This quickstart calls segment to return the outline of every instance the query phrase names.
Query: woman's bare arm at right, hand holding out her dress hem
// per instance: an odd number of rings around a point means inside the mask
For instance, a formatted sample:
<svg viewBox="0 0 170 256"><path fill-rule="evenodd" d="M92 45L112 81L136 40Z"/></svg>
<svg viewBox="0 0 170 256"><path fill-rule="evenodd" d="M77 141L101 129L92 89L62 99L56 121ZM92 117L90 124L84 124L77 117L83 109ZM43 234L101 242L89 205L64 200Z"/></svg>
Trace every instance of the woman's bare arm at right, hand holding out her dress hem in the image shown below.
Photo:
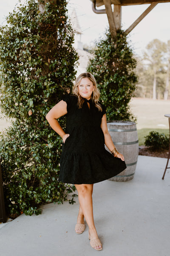
<svg viewBox="0 0 170 256"><path fill-rule="evenodd" d="M110 151L113 151L113 149L115 148L115 145L113 144L111 135L108 132L106 114L104 114L102 117L101 128L105 136L105 145L108 147ZM115 157L119 157L122 161L124 161L124 156L119 152L115 154Z"/></svg>

